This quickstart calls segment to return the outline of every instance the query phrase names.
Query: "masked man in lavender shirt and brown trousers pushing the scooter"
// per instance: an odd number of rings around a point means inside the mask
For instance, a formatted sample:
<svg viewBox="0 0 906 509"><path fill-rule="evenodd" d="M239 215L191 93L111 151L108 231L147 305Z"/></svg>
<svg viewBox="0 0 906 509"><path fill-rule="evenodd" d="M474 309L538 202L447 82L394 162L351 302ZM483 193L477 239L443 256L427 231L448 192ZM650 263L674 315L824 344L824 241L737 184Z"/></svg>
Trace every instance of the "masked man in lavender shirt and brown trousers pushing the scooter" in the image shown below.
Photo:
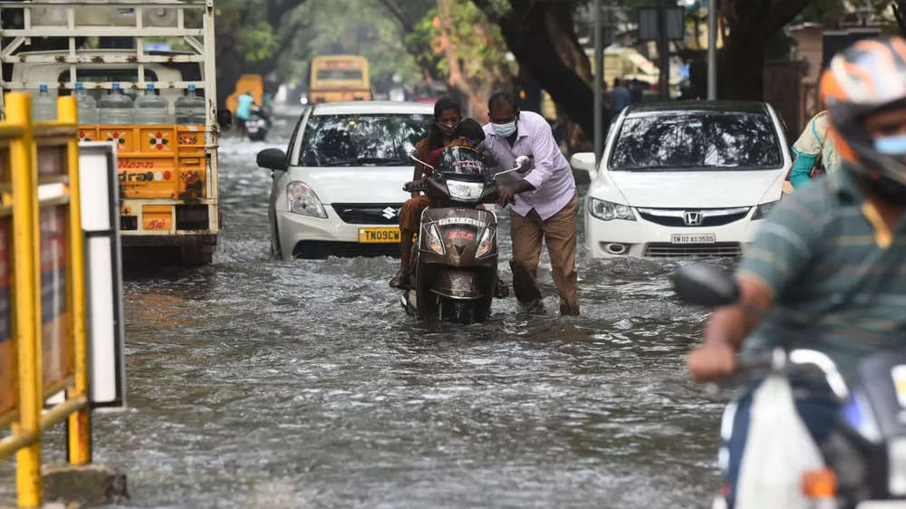
<svg viewBox="0 0 906 509"><path fill-rule="evenodd" d="M547 120L531 111L519 111L516 98L496 92L487 101L484 147L501 168L514 168L516 158L533 158L525 178L500 189L501 206L510 205L513 239L513 290L528 311L544 309L538 289L542 240L551 256L551 272L560 293L560 313L579 314L575 270L576 215L579 198L573 170L554 141Z"/></svg>

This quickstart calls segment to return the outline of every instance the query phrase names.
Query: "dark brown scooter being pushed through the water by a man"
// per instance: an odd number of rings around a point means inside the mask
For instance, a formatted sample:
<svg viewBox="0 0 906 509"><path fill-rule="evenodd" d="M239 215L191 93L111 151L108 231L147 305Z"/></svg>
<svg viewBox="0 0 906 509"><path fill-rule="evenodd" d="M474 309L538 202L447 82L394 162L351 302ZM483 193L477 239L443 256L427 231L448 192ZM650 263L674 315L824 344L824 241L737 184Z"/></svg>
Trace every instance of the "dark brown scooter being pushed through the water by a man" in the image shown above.
<svg viewBox="0 0 906 509"><path fill-rule="evenodd" d="M472 149L452 151L432 168L424 187L415 190L425 191L439 206L421 215L413 284L400 297L406 312L429 321L487 320L496 294L497 220L477 206L496 203L497 186L530 168L531 159L523 156L516 168L488 178Z"/></svg>

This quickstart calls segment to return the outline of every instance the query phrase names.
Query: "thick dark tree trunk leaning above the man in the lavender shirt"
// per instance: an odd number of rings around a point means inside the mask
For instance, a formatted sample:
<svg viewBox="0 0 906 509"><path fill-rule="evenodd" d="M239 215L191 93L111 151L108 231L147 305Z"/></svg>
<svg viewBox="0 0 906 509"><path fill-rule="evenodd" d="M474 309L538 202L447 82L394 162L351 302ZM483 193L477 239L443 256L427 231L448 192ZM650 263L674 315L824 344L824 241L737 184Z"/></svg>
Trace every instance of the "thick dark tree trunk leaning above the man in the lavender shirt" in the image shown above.
<svg viewBox="0 0 906 509"><path fill-rule="evenodd" d="M496 7L490 0L472 1L490 19L496 19L506 46L519 65L535 77L560 109L591 138L594 123L591 63L573 28L573 7L558 2L511 0L518 5L495 18Z"/></svg>

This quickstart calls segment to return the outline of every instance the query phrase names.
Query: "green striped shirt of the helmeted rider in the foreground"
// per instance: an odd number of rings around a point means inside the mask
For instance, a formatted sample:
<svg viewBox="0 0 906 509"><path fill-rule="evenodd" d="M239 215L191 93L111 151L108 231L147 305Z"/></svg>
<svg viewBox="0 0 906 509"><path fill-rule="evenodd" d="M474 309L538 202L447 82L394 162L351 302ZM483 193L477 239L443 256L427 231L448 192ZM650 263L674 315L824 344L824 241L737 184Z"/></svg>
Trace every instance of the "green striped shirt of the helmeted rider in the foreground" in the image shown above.
<svg viewBox="0 0 906 509"><path fill-rule="evenodd" d="M747 349L811 348L849 371L867 354L906 347L906 222L885 236L872 211L845 170L774 207L738 269L775 297Z"/></svg>

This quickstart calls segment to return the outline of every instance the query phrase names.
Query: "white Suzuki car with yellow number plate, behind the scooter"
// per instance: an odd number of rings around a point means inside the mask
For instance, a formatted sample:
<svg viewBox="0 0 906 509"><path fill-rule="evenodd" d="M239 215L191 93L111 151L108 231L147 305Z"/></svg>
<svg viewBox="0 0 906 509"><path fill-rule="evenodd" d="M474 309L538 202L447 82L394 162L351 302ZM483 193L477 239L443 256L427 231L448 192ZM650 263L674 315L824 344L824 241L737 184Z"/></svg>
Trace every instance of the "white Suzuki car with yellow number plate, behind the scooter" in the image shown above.
<svg viewBox="0 0 906 509"><path fill-rule="evenodd" d="M433 106L355 101L313 105L289 149L265 149L274 171L272 250L284 259L399 255L400 206L412 179L408 156L433 121Z"/></svg>

